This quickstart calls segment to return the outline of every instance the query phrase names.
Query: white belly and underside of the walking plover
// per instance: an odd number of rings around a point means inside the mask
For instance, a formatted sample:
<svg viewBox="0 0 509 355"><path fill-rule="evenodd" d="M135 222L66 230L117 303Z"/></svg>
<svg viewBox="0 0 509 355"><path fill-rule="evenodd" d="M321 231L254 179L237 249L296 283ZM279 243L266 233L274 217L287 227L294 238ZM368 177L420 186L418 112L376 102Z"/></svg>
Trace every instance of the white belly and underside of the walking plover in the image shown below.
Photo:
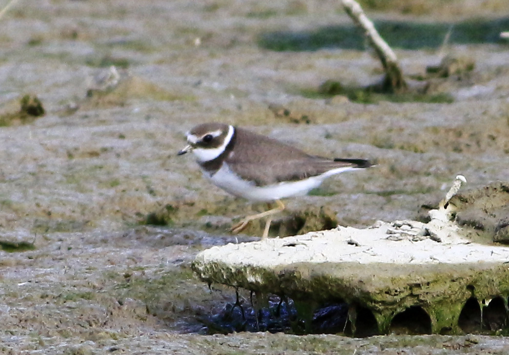
<svg viewBox="0 0 509 355"><path fill-rule="evenodd" d="M223 164L221 169L214 175L210 176L208 173L204 173L204 175L216 186L232 195L243 197L251 201L270 202L291 196L305 195L310 190L320 186L322 181L327 177L348 170L355 170L355 168L337 168L322 175L304 180L279 182L267 186L256 186L251 182L242 180L237 174L232 172L226 164Z"/></svg>

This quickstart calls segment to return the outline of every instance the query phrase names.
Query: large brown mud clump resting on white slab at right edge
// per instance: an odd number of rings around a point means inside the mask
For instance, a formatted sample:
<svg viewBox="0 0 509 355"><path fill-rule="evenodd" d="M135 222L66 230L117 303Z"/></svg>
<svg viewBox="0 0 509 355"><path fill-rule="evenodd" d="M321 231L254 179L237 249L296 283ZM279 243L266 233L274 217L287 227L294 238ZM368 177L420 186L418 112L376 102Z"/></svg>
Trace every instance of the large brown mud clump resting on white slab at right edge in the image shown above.
<svg viewBox="0 0 509 355"><path fill-rule="evenodd" d="M460 193L449 204L455 207L454 219L466 237L485 243L509 243L509 182L494 182Z"/></svg>

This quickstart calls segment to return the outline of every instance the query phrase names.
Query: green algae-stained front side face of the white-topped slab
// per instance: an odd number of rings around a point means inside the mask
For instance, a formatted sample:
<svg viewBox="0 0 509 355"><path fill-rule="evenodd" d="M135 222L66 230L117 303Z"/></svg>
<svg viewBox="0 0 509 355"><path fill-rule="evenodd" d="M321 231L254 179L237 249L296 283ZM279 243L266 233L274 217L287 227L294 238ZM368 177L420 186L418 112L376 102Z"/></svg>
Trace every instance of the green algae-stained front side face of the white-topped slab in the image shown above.
<svg viewBox="0 0 509 355"><path fill-rule="evenodd" d="M395 315L413 306L428 313L432 333L458 334L460 312L472 293L479 300L509 295L509 269L492 263L395 267L383 263L297 263L270 272L256 267L228 269L218 263L204 268L195 262L193 269L209 283L285 294L296 305L309 305L311 312L313 305L332 300L358 304L373 313L382 334L389 331Z"/></svg>

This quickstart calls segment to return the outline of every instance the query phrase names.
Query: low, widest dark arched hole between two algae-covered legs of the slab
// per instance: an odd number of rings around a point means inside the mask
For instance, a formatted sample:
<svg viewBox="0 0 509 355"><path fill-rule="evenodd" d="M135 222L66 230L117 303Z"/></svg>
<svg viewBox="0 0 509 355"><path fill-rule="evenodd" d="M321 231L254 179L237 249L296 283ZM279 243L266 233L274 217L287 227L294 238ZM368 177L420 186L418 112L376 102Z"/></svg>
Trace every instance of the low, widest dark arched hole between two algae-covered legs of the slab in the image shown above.
<svg viewBox="0 0 509 355"><path fill-rule="evenodd" d="M431 318L422 307L411 306L392 318L389 330L394 334L431 334Z"/></svg>

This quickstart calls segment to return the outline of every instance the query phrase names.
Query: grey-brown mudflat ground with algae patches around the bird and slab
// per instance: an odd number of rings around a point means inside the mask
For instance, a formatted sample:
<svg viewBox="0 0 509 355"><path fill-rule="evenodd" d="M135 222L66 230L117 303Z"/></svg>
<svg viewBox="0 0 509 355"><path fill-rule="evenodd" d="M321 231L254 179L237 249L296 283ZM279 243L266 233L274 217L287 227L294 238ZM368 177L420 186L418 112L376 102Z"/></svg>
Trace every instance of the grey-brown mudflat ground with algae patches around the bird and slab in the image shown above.
<svg viewBox="0 0 509 355"><path fill-rule="evenodd" d="M0 18L0 353L505 353L505 338L484 336L205 335L203 319L235 292L210 291L190 262L252 239L228 228L264 206L176 156L193 125L228 122L313 154L377 161L289 200L272 234L327 225L324 213L357 227L416 218L457 174L471 188L509 181L505 2L390 3L370 2L369 14L409 79L445 56L474 65L430 79L413 101L359 94L380 64L328 0L11 8ZM94 78L111 65L120 84L108 88ZM350 91L321 93L330 79ZM20 115L24 95L45 114Z"/></svg>

